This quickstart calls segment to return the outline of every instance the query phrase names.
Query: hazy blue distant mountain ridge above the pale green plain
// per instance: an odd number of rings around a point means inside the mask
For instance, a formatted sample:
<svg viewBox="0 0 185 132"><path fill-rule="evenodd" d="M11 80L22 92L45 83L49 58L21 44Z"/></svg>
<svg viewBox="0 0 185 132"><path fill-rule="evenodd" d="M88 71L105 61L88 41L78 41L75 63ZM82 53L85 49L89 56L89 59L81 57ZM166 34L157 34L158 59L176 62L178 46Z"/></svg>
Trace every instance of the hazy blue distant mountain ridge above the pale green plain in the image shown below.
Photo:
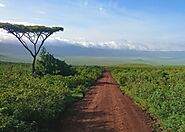
<svg viewBox="0 0 185 132"><path fill-rule="evenodd" d="M46 49L54 56L97 56L97 57L152 57L152 58L185 58L185 51L139 51L88 48L68 43L46 43ZM30 57L29 53L18 43L0 43L0 55Z"/></svg>

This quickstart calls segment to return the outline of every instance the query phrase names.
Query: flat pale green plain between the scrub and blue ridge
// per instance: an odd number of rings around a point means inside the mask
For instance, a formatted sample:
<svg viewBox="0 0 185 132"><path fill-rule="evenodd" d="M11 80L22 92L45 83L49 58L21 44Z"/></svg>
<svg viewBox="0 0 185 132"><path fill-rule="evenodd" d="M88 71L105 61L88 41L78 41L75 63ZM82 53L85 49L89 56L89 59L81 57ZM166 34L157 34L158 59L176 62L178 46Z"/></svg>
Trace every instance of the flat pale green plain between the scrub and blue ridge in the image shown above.
<svg viewBox="0 0 185 132"><path fill-rule="evenodd" d="M72 65L117 65L117 64L150 64L150 65L185 65L184 58L147 58L147 57L93 57L93 56L64 56L59 57ZM0 56L0 61L26 62L31 58L25 56Z"/></svg>

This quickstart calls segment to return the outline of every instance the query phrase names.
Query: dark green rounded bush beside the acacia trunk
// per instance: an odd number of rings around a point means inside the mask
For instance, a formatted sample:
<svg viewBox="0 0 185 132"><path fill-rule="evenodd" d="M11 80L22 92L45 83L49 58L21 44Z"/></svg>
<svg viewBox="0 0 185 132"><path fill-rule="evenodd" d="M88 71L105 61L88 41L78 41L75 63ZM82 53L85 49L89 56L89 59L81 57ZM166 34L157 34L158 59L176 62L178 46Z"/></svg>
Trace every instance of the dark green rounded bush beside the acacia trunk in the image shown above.
<svg viewBox="0 0 185 132"><path fill-rule="evenodd" d="M46 51L45 48L42 49L40 54L40 59L37 60L37 74L39 75L74 75L74 70L70 65L56 59L53 55Z"/></svg>

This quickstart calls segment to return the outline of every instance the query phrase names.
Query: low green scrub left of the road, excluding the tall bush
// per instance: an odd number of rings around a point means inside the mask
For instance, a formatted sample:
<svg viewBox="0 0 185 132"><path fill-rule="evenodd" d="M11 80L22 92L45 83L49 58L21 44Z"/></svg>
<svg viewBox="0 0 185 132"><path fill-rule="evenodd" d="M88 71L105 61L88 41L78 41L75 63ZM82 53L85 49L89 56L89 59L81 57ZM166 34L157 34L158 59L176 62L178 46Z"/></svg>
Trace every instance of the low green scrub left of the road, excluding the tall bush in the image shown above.
<svg viewBox="0 0 185 132"><path fill-rule="evenodd" d="M74 66L74 76L33 77L30 67L0 63L0 131L47 131L102 72L100 67Z"/></svg>

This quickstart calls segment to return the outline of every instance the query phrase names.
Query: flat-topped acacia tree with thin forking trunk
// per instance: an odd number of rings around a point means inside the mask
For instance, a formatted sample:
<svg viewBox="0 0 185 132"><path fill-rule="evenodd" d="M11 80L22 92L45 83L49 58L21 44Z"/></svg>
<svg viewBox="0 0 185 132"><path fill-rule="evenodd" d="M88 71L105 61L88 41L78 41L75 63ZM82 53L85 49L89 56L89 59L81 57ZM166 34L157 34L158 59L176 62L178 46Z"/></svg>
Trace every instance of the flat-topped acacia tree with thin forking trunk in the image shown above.
<svg viewBox="0 0 185 132"><path fill-rule="evenodd" d="M0 23L0 28L13 34L33 57L32 74L35 75L37 55L46 39L55 32L63 31L63 27L25 26L11 23ZM28 43L31 43L32 46Z"/></svg>

